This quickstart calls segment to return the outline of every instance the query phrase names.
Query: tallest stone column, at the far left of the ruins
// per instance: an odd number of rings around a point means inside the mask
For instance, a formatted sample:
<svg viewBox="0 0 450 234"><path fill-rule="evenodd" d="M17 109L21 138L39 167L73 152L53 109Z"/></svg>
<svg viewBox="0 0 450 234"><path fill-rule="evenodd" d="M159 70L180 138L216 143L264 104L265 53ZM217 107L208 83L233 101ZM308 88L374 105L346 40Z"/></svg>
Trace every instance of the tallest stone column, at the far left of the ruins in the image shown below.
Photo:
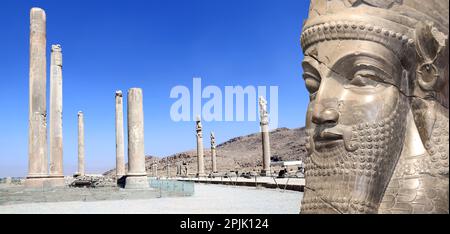
<svg viewBox="0 0 450 234"><path fill-rule="evenodd" d="M30 73L27 187L41 187L48 177L46 106L46 15L30 11Z"/></svg>

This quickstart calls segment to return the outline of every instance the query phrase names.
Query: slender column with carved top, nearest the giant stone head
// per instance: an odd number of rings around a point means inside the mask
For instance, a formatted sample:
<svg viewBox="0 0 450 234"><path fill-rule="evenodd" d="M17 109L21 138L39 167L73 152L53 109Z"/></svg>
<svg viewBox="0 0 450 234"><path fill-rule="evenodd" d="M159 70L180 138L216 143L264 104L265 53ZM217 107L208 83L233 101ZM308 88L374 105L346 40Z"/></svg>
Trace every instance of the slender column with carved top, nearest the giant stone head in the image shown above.
<svg viewBox="0 0 450 234"><path fill-rule="evenodd" d="M267 101L262 96L259 97L259 113L261 118L260 126L263 149L263 168L261 175L270 176L269 114L267 113Z"/></svg>

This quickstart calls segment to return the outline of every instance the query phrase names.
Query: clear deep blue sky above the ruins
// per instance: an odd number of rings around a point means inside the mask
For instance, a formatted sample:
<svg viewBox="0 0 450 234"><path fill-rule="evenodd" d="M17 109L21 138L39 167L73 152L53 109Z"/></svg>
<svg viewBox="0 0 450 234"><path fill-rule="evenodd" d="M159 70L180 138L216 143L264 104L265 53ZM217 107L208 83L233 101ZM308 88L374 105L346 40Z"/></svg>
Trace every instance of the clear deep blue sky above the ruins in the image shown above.
<svg viewBox="0 0 450 234"><path fill-rule="evenodd" d="M308 5L306 0L2 1L0 177L27 174L31 7L47 13L47 87L50 46L63 49L64 173L72 174L79 110L85 113L86 171L115 167L119 89L143 89L148 155L195 148L194 122L173 122L170 107L176 100L169 97L174 86L192 89L193 77L222 90L278 86L278 126L304 126L308 95L299 41ZM218 143L259 130L253 121L203 126L205 136L215 131Z"/></svg>

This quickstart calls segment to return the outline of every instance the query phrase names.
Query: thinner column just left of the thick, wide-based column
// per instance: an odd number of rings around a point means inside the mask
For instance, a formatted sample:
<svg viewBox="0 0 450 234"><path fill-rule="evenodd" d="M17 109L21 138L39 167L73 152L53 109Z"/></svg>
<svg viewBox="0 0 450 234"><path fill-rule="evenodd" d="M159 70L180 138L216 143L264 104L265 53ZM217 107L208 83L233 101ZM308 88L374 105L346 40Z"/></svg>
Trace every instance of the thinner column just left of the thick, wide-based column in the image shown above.
<svg viewBox="0 0 450 234"><path fill-rule="evenodd" d="M125 175L125 148L123 135L123 97L122 91L116 91L116 176Z"/></svg>

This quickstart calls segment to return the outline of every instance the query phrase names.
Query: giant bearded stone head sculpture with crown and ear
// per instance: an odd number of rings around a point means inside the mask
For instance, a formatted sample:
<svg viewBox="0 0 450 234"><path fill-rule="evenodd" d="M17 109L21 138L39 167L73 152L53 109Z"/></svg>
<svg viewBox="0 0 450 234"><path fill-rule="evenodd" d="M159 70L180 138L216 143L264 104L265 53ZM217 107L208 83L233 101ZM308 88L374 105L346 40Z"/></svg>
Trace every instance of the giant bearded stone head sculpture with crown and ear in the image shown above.
<svg viewBox="0 0 450 234"><path fill-rule="evenodd" d="M448 0L312 0L301 213L448 213Z"/></svg>

